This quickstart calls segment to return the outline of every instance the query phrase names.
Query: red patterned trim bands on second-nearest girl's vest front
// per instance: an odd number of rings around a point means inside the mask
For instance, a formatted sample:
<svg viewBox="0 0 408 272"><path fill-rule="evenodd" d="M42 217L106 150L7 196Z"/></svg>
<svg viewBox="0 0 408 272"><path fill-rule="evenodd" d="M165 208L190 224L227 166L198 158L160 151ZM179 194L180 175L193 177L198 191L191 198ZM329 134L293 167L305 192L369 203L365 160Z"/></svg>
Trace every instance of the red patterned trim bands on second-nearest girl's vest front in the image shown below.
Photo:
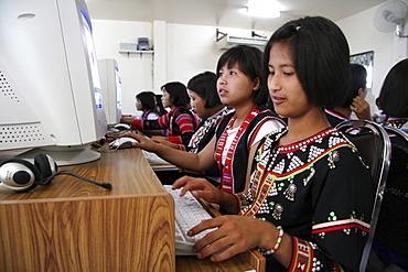
<svg viewBox="0 0 408 272"><path fill-rule="evenodd" d="M237 119L237 115L235 113L233 118L229 120L227 127L224 129L223 134L219 137L219 140L216 145L215 150L215 161L218 164L219 170L222 170L222 178L221 178L221 184L219 188L223 192L234 194L234 178L233 178L233 162L234 162L234 155L235 155L235 149L236 145L243 135L243 133L246 131L248 128L249 123L254 120L255 117L258 116L259 111L256 109L257 105L254 106L254 108L250 110L250 112L247 115L245 118L244 122L240 124L237 134L235 135L233 142L230 143L230 146L227 151L227 156L225 160L225 165L223 167L222 164L222 157L223 157L223 152L224 148L227 141L228 137L228 130L233 127L235 120Z"/></svg>

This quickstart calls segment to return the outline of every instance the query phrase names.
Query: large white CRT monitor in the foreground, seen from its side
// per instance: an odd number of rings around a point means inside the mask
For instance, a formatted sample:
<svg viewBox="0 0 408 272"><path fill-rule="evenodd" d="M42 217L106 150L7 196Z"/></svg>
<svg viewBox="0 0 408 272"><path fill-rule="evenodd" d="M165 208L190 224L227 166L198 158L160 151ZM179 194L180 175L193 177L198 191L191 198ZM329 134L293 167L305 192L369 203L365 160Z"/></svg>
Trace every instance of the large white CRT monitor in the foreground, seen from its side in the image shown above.
<svg viewBox="0 0 408 272"><path fill-rule="evenodd" d="M0 151L100 157L86 145L107 131L92 31L83 0L0 1Z"/></svg>

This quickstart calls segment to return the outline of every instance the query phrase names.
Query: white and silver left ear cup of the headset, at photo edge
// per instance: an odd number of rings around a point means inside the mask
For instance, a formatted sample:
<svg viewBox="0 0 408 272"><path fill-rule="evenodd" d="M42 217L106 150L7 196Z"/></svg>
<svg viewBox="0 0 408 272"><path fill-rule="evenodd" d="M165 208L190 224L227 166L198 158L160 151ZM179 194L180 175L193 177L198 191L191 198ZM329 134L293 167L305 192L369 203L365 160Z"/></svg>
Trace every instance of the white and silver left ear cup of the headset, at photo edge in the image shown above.
<svg viewBox="0 0 408 272"><path fill-rule="evenodd" d="M36 186L39 170L30 162L11 159L0 164L0 191L29 191Z"/></svg>

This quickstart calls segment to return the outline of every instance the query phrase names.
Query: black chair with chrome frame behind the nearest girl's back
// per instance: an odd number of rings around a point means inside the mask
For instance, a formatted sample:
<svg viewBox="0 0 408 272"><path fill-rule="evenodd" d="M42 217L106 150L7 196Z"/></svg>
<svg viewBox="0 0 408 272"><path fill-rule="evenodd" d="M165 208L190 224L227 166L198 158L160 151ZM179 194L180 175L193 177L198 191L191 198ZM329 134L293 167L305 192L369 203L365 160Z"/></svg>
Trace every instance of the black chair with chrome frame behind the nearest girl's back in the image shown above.
<svg viewBox="0 0 408 272"><path fill-rule="evenodd" d="M367 242L364 247L359 271L365 272L376 230L383 195L390 163L390 141L384 128L366 120L347 120L336 126L356 145L363 162L369 166L375 199Z"/></svg>

